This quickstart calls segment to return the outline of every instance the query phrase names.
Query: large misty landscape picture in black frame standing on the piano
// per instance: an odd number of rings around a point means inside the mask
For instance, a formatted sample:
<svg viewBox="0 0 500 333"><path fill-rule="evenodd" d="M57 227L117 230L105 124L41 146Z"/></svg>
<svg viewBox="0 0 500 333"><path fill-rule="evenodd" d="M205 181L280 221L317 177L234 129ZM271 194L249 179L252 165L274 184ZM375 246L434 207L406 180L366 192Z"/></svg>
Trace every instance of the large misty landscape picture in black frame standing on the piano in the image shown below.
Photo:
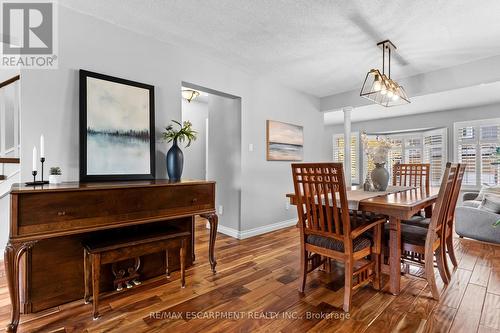
<svg viewBox="0 0 500 333"><path fill-rule="evenodd" d="M80 70L80 181L155 177L154 87Z"/></svg>

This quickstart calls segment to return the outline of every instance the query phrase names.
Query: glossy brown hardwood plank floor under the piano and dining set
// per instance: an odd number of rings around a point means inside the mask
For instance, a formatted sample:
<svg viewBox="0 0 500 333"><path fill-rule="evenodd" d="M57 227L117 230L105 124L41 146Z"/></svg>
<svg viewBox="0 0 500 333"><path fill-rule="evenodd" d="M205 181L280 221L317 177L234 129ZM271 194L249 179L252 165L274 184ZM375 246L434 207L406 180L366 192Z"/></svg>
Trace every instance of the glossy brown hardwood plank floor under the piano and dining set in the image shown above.
<svg viewBox="0 0 500 333"><path fill-rule="evenodd" d="M218 234L216 275L208 264L205 221L198 221L196 229L196 263L186 271L185 289L175 272L169 280L103 295L97 321L92 306L77 301L21 316L19 332L500 333L500 246L455 239L459 268L439 303L425 280L405 275L399 296L367 286L354 293L352 311L345 314L342 267L309 274L305 295L299 294L295 227L241 241ZM9 311L2 265L2 328Z"/></svg>

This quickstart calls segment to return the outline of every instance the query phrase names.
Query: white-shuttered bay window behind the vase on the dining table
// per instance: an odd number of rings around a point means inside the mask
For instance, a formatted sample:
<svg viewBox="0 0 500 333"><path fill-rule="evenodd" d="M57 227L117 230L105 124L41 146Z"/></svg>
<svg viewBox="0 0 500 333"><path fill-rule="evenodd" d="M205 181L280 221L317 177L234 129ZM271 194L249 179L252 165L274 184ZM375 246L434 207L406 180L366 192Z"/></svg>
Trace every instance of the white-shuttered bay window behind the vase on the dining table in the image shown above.
<svg viewBox="0 0 500 333"><path fill-rule="evenodd" d="M447 160L447 129L439 128L429 131L416 131L403 134L384 135L393 142L389 151L387 170L392 179L392 167L396 163L429 163L431 165L430 183L439 186ZM374 144L375 135L368 136L368 145ZM368 161L368 157L364 156ZM368 161L366 172L373 170L373 163Z"/></svg>

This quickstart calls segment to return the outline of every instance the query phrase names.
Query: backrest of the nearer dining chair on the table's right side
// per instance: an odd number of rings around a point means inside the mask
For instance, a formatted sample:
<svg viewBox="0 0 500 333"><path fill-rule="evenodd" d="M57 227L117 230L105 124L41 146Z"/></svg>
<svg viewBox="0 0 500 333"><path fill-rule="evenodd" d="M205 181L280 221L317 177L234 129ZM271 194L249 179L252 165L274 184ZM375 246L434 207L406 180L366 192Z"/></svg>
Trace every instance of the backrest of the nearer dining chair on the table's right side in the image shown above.
<svg viewBox="0 0 500 333"><path fill-rule="evenodd" d="M439 188L438 198L432 211L429 232L439 233L443 235L446 218L448 215L451 197L453 195L453 186L455 185L458 174L458 164L446 163L441 187Z"/></svg>

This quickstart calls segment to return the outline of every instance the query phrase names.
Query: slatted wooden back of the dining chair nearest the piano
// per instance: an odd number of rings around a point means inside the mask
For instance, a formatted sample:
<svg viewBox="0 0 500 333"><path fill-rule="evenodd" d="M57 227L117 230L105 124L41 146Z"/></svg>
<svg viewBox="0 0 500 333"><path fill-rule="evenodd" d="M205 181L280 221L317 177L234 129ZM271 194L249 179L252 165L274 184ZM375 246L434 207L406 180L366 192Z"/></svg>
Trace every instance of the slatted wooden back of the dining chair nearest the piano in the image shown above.
<svg viewBox="0 0 500 333"><path fill-rule="evenodd" d="M351 232L342 163L293 163L299 223L304 234L343 239Z"/></svg>

